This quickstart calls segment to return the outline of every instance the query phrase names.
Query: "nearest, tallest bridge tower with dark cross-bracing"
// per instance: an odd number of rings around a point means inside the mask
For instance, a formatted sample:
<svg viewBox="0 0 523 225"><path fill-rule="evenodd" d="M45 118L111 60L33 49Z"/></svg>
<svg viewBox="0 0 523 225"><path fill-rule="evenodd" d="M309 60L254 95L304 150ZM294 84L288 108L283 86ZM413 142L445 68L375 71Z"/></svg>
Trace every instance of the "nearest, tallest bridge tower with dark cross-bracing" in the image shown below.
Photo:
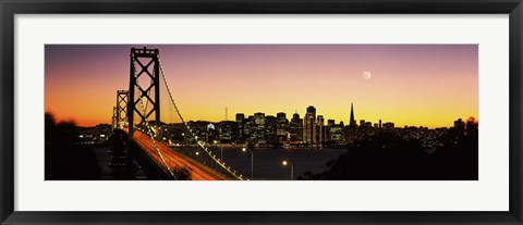
<svg viewBox="0 0 523 225"><path fill-rule="evenodd" d="M158 62L158 49L131 49L131 73L129 83L127 121L129 134L134 132L134 114L141 122L148 122L155 113L156 122L160 121L160 64ZM141 78L145 76L146 78ZM139 82L138 82L139 79ZM151 91L153 95L151 95ZM137 95L137 96L135 96ZM144 100L144 98L146 100ZM144 100L142 103L139 102ZM147 102L147 103L146 103ZM151 104L151 109L145 107ZM143 105L142 105L143 104ZM146 112L144 112L144 109Z"/></svg>

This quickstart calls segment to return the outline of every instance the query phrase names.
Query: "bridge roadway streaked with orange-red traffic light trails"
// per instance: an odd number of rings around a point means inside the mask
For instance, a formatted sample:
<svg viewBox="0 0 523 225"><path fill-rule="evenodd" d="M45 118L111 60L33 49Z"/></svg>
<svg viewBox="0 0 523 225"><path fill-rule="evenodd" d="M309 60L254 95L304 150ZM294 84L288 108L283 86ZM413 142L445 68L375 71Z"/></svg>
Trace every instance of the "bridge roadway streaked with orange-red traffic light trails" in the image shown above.
<svg viewBox="0 0 523 225"><path fill-rule="evenodd" d="M125 130L127 132L127 130ZM165 164L155 149L150 136L139 132L134 130L133 134L134 141L147 153L147 155L155 161L158 166L165 167ZM166 163L171 170L186 167L191 172L192 180L227 180L231 179L223 174L208 167L207 165L202 164L200 162L187 158L181 153L175 152L170 149L168 146L156 141L159 151L163 155Z"/></svg>

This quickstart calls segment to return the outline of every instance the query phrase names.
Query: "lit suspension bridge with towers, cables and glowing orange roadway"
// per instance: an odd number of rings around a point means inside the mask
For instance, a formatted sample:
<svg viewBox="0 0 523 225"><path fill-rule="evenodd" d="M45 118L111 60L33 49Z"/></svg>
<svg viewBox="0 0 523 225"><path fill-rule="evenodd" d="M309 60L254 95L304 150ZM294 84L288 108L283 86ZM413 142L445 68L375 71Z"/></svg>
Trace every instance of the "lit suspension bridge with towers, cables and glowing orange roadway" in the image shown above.
<svg viewBox="0 0 523 225"><path fill-rule="evenodd" d="M167 88L169 103L174 108L174 116L180 118L186 130L184 134L195 140L197 148L171 148L159 137L160 77ZM112 126L114 130L123 130L167 179L244 179L243 175L228 166L208 148L208 143L198 137L182 116L169 87L158 49L131 49L129 89L117 90Z"/></svg>

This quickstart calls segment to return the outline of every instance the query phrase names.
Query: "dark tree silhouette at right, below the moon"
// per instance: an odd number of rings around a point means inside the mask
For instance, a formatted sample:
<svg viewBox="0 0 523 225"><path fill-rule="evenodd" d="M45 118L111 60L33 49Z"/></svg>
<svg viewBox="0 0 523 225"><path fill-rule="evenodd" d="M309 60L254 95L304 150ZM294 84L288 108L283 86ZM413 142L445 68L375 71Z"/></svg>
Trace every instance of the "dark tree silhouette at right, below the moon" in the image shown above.
<svg viewBox="0 0 523 225"><path fill-rule="evenodd" d="M329 170L299 179L344 180L475 180L478 177L477 121L466 121L466 134L455 138L449 130L441 138L448 145L428 153L417 139L404 139L393 130L355 141L348 152L327 162Z"/></svg>

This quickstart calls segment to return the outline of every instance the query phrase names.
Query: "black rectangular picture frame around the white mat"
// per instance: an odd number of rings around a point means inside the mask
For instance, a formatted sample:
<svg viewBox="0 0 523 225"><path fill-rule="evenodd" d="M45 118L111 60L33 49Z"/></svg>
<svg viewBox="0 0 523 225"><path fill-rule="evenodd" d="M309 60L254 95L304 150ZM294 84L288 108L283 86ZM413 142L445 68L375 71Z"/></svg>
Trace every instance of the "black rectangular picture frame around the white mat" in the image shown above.
<svg viewBox="0 0 523 225"><path fill-rule="evenodd" d="M0 0L1 224L523 224L522 0ZM15 14L509 14L510 207L507 212L21 212L14 211ZM488 195L496 195L495 192ZM501 195L501 193L500 193ZM136 202L139 203L139 202Z"/></svg>

